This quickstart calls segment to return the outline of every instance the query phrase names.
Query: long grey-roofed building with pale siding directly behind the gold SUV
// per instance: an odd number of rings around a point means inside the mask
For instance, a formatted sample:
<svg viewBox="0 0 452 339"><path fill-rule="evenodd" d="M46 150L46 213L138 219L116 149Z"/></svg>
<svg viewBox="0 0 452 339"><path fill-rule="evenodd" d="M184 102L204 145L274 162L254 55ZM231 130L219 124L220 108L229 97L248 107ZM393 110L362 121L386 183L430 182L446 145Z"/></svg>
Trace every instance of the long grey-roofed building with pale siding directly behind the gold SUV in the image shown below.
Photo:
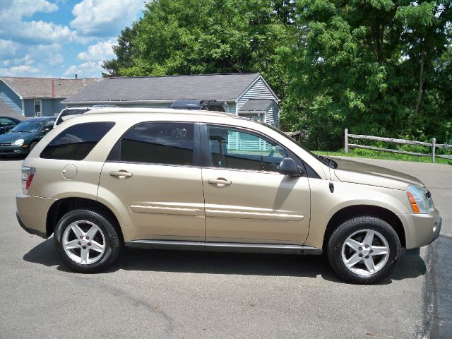
<svg viewBox="0 0 452 339"><path fill-rule="evenodd" d="M260 73L104 78L62 103L167 108L184 99L217 100L226 112L279 127L280 100Z"/></svg>

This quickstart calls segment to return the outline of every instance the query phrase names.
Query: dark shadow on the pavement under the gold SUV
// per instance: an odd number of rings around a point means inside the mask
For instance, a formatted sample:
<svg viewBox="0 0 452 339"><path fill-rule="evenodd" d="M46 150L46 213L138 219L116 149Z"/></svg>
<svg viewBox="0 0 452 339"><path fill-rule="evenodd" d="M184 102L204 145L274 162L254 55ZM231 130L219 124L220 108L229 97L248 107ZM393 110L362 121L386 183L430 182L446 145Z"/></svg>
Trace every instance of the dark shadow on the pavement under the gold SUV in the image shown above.
<svg viewBox="0 0 452 339"><path fill-rule="evenodd" d="M23 260L48 267L57 266L58 270L70 272L54 248L52 238L31 249L23 256ZM321 275L325 280L344 283L335 275L326 256L124 249L117 261L102 273L114 273L117 270L305 278ZM425 272L425 263L419 254L403 255L393 274L379 285L391 284L393 280L416 278Z"/></svg>

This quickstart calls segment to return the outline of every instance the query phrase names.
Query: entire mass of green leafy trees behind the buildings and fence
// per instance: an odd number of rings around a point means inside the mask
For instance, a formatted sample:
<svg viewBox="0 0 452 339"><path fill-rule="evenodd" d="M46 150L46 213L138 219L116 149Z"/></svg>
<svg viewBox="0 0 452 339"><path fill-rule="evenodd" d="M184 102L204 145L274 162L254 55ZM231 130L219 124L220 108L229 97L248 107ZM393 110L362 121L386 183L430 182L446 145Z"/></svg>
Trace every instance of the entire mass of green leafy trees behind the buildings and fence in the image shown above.
<svg viewBox="0 0 452 339"><path fill-rule="evenodd" d="M261 72L311 147L452 140L450 0L155 0L106 76ZM327 137L327 138L326 138Z"/></svg>

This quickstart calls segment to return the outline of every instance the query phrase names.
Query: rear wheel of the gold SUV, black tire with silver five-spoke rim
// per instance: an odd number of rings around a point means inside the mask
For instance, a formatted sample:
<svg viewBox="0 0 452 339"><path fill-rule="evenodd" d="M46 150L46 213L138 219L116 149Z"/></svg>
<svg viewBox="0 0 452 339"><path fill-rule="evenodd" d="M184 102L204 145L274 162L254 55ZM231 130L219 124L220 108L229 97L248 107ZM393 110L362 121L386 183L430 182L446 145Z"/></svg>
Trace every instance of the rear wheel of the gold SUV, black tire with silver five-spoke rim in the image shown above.
<svg viewBox="0 0 452 339"><path fill-rule="evenodd" d="M83 239L81 239L82 243L78 242L80 244L79 248L65 250L64 242L66 240L64 237L67 237L68 242L66 244L69 244L69 241L74 241L74 239L78 240L78 236L76 232L73 232L73 228L69 230L69 227L73 226L74 222L77 223L78 230L80 229L84 232ZM98 229L95 231L95 239L85 239L85 235L88 234L93 225ZM66 230L68 232L65 234ZM93 242L93 245L96 244L96 246L99 244L103 245L103 253L98 252L97 249L93 250L93 247L88 247L88 245L92 246L90 241ZM121 242L112 220L109 220L109 218L106 218L96 210L72 210L66 213L59 220L57 227L55 227L54 245L57 247L59 255L66 266L81 273L96 273L105 270L105 268L114 262L121 250ZM93 263L76 261L75 258L77 256L80 256L80 259L83 260L82 248L83 253L86 253L86 249L88 248L88 260L90 256L94 256L94 258L91 258L91 260L95 260ZM78 255L78 253L80 254Z"/></svg>

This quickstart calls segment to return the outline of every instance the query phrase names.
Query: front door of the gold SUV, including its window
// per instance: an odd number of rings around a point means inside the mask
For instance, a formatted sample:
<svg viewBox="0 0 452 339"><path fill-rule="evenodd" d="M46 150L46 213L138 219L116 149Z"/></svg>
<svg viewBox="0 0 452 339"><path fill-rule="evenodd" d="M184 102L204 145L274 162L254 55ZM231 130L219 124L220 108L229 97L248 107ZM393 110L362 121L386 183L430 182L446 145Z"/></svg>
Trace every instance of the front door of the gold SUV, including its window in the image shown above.
<svg viewBox="0 0 452 339"><path fill-rule="evenodd" d="M307 177L278 172L287 150L258 132L203 129L206 242L303 244L309 231Z"/></svg>

